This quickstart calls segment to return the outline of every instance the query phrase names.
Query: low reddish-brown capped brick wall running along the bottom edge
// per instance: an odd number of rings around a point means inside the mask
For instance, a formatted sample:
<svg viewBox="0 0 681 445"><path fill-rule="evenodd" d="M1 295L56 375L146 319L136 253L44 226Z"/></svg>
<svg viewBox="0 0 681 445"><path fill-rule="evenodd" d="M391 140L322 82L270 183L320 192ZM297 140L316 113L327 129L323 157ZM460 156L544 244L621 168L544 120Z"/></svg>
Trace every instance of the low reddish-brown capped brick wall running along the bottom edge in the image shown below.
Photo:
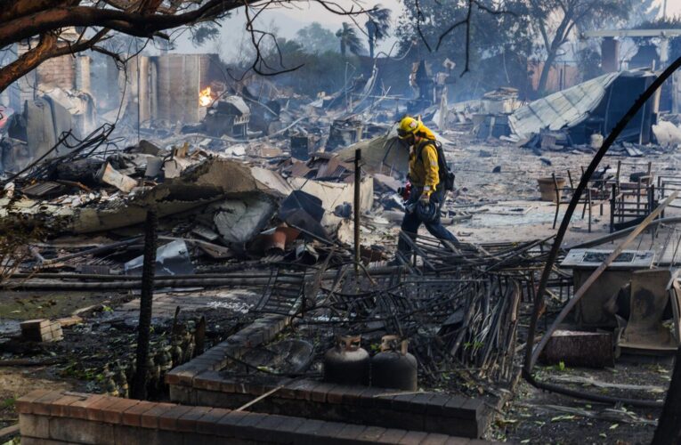
<svg viewBox="0 0 681 445"><path fill-rule="evenodd" d="M30 392L17 401L17 410L22 445L487 443L443 434L78 392Z"/></svg>

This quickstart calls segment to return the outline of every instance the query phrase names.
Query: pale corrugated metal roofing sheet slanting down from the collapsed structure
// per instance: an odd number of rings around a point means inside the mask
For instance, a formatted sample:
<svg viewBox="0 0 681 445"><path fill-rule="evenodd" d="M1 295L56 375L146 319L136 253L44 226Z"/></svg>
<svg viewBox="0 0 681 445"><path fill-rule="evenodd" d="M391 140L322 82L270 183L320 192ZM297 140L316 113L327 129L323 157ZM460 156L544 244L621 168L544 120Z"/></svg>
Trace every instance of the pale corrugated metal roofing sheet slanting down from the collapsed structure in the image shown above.
<svg viewBox="0 0 681 445"><path fill-rule="evenodd" d="M513 133L528 137L543 129L552 131L580 124L603 100L605 91L621 73L609 73L553 93L516 109L508 124Z"/></svg>

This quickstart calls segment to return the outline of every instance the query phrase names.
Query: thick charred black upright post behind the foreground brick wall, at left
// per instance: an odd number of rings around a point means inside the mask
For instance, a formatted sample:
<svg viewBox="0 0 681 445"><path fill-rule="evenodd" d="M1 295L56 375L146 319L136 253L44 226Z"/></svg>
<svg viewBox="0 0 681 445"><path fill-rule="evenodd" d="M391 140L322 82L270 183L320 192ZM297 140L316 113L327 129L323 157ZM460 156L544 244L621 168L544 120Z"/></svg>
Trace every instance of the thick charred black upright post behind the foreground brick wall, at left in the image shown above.
<svg viewBox="0 0 681 445"><path fill-rule="evenodd" d="M144 262L142 263L142 295L140 295L140 322L137 325L137 359L133 379L133 399L147 398L147 360L151 330L151 299L154 294L156 267L156 229L158 216L155 210L147 212L144 234Z"/></svg>

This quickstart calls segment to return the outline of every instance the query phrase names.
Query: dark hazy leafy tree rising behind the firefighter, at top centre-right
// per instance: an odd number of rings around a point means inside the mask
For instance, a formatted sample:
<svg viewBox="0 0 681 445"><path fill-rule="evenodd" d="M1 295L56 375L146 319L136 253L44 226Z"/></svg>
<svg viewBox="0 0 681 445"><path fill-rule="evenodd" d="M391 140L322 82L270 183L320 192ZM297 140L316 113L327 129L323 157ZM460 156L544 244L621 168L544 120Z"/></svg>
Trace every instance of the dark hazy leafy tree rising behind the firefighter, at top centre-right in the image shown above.
<svg viewBox="0 0 681 445"><path fill-rule="evenodd" d="M409 52L409 61L427 59L435 72L440 70L445 59L456 62L457 69L451 77L455 85L450 86L455 100L477 98L501 85L518 87L523 94L527 85L527 61L533 51L535 36L531 32L527 5L522 0L508 0L503 6L493 7L508 13L490 14L474 8L468 52L472 76L464 77L458 77L458 73L466 62L466 28L458 26L446 36L442 35L447 28L466 19L468 2L419 0L423 13L420 21L416 0L404 0L404 4L406 13L395 28L401 54ZM432 53L419 36L417 22Z"/></svg>

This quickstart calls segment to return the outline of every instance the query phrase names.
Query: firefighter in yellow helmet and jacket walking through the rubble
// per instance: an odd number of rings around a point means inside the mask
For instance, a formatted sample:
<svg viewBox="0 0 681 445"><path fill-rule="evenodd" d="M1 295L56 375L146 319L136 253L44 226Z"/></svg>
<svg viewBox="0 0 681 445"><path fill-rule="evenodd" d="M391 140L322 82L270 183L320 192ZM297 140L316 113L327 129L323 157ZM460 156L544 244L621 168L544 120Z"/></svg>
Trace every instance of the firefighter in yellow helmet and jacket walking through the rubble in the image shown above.
<svg viewBox="0 0 681 445"><path fill-rule="evenodd" d="M445 159L440 159L435 145L434 133L414 117L404 117L397 129L398 137L409 145L409 182L411 189L405 202L404 219L397 244L398 252L404 258L409 255L409 244L402 239L404 235L416 239L418 228L426 224L426 229L437 239L454 243L458 240L440 223L440 209L444 204L446 187L441 166L446 167ZM452 180L453 183L453 180Z"/></svg>

